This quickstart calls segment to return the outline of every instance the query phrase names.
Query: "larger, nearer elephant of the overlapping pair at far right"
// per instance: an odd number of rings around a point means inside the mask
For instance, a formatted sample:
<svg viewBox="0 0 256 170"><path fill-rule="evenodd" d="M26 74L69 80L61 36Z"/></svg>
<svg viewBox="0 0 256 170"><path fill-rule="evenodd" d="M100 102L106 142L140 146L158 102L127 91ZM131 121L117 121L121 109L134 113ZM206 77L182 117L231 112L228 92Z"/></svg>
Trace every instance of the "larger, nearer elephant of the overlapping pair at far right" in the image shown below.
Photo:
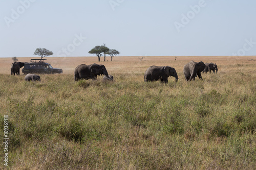
<svg viewBox="0 0 256 170"><path fill-rule="evenodd" d="M204 70L204 68L205 68L204 62L190 61L189 63L185 64L183 68L185 79L187 81L191 81L191 80L195 80L195 78L198 76L199 79L203 80L201 76L201 72Z"/></svg>

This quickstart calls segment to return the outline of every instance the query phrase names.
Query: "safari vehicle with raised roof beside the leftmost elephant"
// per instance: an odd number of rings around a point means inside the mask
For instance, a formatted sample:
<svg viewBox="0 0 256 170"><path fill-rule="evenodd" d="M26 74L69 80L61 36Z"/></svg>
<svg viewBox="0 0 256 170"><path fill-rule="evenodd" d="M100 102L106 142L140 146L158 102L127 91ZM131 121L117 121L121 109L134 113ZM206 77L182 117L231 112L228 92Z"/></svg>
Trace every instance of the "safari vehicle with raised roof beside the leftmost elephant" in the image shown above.
<svg viewBox="0 0 256 170"><path fill-rule="evenodd" d="M39 74L55 74L62 73L61 68L53 68L51 64L45 62L46 59L31 59L30 62L25 62L22 72L24 74L39 73Z"/></svg>

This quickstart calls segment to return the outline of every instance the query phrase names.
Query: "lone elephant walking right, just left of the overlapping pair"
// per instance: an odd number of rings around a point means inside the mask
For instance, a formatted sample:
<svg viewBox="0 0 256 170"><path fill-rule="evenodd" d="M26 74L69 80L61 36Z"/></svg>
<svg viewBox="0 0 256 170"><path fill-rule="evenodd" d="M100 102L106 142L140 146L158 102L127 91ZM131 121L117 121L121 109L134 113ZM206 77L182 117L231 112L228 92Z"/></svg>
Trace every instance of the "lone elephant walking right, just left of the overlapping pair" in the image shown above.
<svg viewBox="0 0 256 170"><path fill-rule="evenodd" d="M178 75L175 68L170 66L155 66L152 65L147 68L144 74L144 81L158 81L161 83L168 83L168 77L173 76L178 81Z"/></svg>

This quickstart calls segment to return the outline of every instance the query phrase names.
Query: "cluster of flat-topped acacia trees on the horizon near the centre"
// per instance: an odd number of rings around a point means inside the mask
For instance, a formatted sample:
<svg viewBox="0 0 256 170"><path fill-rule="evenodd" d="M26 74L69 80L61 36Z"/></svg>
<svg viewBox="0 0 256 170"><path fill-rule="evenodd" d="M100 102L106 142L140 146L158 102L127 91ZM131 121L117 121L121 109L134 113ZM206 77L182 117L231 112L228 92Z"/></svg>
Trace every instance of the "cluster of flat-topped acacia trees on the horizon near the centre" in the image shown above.
<svg viewBox="0 0 256 170"><path fill-rule="evenodd" d="M88 53L90 54L96 54L98 57L98 60L100 61L100 57L104 54L104 61L106 61L106 54L110 55L111 61L113 60L113 57L120 54L115 49L108 48L105 43L103 45L96 45L92 50L90 50Z"/></svg>

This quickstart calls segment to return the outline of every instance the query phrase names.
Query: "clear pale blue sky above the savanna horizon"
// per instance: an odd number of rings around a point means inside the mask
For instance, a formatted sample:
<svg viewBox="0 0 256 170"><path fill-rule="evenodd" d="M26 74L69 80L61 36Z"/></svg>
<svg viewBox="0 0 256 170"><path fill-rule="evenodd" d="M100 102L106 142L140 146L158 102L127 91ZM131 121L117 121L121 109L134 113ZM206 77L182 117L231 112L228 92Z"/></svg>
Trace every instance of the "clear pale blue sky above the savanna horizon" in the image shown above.
<svg viewBox="0 0 256 170"><path fill-rule="evenodd" d="M102 43L119 56L256 55L255 9L253 0L1 0L0 57L37 47L93 56Z"/></svg>

